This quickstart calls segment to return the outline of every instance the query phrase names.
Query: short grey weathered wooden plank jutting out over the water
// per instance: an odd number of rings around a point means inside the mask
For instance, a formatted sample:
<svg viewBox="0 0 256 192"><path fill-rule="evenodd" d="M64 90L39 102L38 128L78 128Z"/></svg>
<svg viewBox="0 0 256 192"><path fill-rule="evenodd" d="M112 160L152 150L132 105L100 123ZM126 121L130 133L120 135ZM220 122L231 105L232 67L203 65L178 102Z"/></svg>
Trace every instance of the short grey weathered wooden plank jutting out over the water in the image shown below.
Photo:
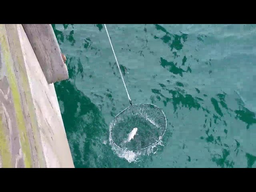
<svg viewBox="0 0 256 192"><path fill-rule="evenodd" d="M22 24L48 84L68 79L68 69L62 59L51 24Z"/></svg>

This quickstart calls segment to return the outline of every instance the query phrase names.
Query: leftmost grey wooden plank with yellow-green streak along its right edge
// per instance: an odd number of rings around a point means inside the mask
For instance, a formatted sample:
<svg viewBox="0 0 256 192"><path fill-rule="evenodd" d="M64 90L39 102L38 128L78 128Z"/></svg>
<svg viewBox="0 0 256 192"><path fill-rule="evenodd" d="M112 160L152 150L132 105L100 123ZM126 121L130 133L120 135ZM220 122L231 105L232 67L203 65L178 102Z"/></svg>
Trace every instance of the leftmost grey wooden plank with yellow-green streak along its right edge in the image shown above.
<svg viewBox="0 0 256 192"><path fill-rule="evenodd" d="M12 42L12 40L10 40ZM12 43L11 43L12 44ZM20 96L17 68L10 51L9 38L5 24L0 24L0 55L1 55L1 81L0 104L2 106L1 122L1 159L2 166L33 167L30 141L25 126L23 101ZM16 47L18 49L18 46ZM22 72L21 72L22 74ZM4 160L10 159L7 149L11 154L9 165L4 165ZM5 151L3 153L3 151Z"/></svg>

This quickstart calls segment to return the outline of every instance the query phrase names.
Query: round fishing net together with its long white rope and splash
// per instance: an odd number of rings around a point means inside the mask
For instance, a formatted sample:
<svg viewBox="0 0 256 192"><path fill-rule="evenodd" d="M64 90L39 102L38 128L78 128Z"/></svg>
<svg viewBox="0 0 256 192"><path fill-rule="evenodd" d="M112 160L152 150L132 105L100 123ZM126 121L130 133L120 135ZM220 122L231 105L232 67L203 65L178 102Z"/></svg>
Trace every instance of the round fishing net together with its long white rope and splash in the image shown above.
<svg viewBox="0 0 256 192"><path fill-rule="evenodd" d="M110 36L106 24L104 24L108 39L116 59L120 76L124 83L130 106L120 112L109 126L109 142L112 149L121 158L126 158L128 162L136 160L136 157L143 152L150 153L153 148L161 143L161 139L166 131L166 116L164 112L157 106L148 103L132 104L132 100L126 88L121 69L119 67L114 48L112 46ZM136 134L138 128L140 133ZM133 128L133 129L132 129ZM128 133L128 131L132 131ZM134 136L136 142L134 142ZM126 138L128 136L128 138ZM126 138L126 139L124 139ZM133 140L131 142L131 140ZM143 151L142 151L143 150Z"/></svg>

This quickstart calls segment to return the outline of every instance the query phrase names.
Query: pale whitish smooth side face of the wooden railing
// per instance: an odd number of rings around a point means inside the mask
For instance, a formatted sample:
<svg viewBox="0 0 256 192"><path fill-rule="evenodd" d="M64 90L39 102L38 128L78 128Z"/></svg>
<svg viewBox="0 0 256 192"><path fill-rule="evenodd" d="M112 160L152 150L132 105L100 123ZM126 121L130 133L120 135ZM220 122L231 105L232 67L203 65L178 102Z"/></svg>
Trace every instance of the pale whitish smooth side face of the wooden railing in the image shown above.
<svg viewBox="0 0 256 192"><path fill-rule="evenodd" d="M74 168L54 84L48 84L22 25L18 25L46 167Z"/></svg>

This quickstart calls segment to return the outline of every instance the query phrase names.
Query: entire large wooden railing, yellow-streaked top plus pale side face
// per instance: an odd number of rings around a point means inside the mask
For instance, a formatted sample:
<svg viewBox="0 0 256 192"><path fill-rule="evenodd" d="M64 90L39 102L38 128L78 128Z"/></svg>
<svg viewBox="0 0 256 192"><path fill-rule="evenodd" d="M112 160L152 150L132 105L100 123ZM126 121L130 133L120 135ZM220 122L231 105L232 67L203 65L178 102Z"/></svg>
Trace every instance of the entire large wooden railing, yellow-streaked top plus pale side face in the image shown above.
<svg viewBox="0 0 256 192"><path fill-rule="evenodd" d="M21 24L0 24L0 167L74 167L53 84Z"/></svg>

